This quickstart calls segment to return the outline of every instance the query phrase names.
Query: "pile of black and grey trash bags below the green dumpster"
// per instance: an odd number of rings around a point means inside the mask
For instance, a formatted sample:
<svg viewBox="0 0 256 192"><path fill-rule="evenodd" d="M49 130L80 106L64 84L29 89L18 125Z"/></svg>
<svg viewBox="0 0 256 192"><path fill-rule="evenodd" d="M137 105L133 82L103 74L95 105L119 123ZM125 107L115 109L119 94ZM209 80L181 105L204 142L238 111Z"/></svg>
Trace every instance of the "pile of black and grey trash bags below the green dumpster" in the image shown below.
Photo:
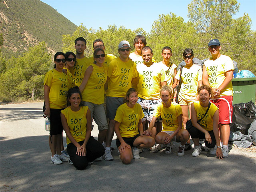
<svg viewBox="0 0 256 192"><path fill-rule="evenodd" d="M244 148L256 145L256 106L252 101L233 105L229 141Z"/></svg>

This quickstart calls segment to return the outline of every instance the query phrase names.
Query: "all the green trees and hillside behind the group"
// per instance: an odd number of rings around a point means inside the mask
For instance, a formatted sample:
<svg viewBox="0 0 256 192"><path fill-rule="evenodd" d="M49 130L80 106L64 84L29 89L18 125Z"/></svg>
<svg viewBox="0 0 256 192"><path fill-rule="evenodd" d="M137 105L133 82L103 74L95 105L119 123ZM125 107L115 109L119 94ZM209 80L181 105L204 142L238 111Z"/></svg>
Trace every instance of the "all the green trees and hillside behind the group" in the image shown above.
<svg viewBox="0 0 256 192"><path fill-rule="evenodd" d="M39 0L0 0L0 6L0 102L43 99L44 74L53 68L52 56L60 50L75 52L74 40L80 36L87 41L86 56L92 56L96 38L102 38L106 53L118 56L121 40L128 40L133 48L134 37L141 34L146 36L157 61L162 60L162 48L170 46L171 62L175 64L182 62L185 48L192 48L200 60L210 58L208 42L218 38L222 54L238 62L240 70L256 74L256 31L251 30L248 14L232 18L239 11L236 0L191 0L188 22L172 12L162 14L149 33L142 28L130 30L115 25L106 30L76 27ZM49 48L54 51L49 53Z"/></svg>

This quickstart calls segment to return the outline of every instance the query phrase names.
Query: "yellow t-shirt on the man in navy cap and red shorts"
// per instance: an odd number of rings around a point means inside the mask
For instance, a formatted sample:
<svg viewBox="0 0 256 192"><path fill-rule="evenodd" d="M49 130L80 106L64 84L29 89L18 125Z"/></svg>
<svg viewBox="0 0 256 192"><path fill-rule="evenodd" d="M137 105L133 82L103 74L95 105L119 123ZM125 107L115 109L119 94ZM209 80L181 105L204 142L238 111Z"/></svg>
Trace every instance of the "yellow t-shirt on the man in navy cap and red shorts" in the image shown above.
<svg viewBox="0 0 256 192"><path fill-rule="evenodd" d="M212 88L219 88L226 78L224 73L233 70L234 65L233 61L229 56L220 55L216 60L212 60L212 58L206 60L204 62L204 66L206 68L208 74L208 82ZM233 96L233 86L230 81L229 84L221 90L220 96Z"/></svg>

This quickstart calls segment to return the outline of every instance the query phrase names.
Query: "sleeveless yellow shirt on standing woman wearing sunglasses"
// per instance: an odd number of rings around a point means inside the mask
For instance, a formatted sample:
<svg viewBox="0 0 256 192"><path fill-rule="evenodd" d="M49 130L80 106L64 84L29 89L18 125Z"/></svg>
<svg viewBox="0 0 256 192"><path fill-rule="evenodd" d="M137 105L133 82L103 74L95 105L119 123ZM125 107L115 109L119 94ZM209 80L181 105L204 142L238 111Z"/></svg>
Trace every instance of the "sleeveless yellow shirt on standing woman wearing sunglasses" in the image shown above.
<svg viewBox="0 0 256 192"><path fill-rule="evenodd" d="M104 85L107 80L107 66L102 67L92 64L93 70L82 92L82 100L94 104L104 103Z"/></svg>

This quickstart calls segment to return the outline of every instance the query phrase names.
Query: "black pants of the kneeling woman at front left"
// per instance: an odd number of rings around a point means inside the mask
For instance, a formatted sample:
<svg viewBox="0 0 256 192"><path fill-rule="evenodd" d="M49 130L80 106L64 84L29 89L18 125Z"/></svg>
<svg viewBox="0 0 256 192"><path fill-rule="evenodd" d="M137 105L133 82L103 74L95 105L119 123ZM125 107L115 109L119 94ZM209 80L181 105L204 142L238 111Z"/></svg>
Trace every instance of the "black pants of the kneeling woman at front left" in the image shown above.
<svg viewBox="0 0 256 192"><path fill-rule="evenodd" d="M84 141L80 141L78 143L82 146ZM74 167L78 170L84 170L88 165L88 161L92 162L96 158L101 157L105 152L102 144L95 140L93 136L90 136L86 144L86 156L78 156L76 154L77 148L73 143L68 144L67 151Z"/></svg>

